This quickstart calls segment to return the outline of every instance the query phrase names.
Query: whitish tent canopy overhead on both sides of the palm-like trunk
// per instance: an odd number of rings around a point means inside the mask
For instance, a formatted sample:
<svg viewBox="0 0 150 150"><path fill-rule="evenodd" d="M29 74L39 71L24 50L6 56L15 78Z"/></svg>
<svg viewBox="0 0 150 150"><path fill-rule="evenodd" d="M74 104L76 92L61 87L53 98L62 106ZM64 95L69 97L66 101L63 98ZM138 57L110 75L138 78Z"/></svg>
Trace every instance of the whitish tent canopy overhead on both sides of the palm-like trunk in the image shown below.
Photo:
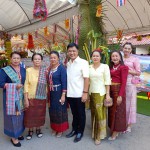
<svg viewBox="0 0 150 150"><path fill-rule="evenodd" d="M46 21L33 19L34 0L0 0L0 30L9 33L25 33L52 25L77 15L78 6L67 0L46 0ZM116 0L104 0L105 30L112 35L121 29L124 33L150 31L150 1L126 0L125 6L117 7Z"/></svg>

